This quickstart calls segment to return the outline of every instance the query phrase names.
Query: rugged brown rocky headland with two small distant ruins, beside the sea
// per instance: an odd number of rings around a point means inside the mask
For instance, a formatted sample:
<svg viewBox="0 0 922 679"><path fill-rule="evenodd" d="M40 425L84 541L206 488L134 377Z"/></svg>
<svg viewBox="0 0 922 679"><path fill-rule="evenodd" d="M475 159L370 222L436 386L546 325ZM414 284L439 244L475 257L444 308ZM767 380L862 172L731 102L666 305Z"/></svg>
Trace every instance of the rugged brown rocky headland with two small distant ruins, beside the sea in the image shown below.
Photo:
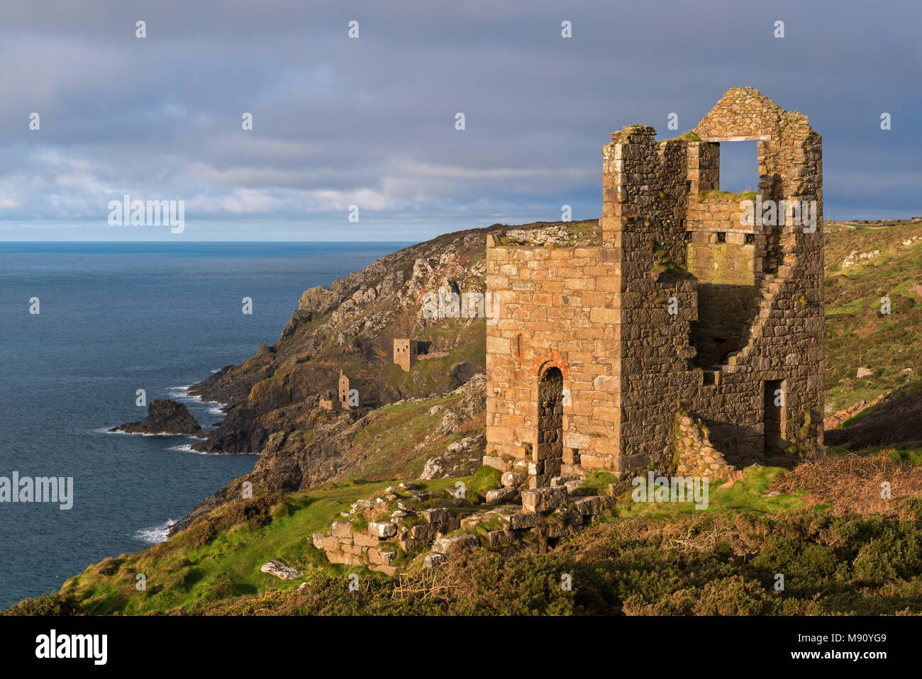
<svg viewBox="0 0 922 679"><path fill-rule="evenodd" d="M296 491L349 474L472 474L484 448L486 320L423 311L429 293L485 291L488 234L553 245L598 239L596 222L458 231L389 254L329 288L306 290L275 345L261 345L254 357L190 388L229 404L195 450L262 457L252 474L219 489L171 533L239 497L245 481L254 489ZM421 347L409 372L393 361L394 339L405 337ZM337 390L340 369L361 406L324 410L320 398Z"/></svg>

